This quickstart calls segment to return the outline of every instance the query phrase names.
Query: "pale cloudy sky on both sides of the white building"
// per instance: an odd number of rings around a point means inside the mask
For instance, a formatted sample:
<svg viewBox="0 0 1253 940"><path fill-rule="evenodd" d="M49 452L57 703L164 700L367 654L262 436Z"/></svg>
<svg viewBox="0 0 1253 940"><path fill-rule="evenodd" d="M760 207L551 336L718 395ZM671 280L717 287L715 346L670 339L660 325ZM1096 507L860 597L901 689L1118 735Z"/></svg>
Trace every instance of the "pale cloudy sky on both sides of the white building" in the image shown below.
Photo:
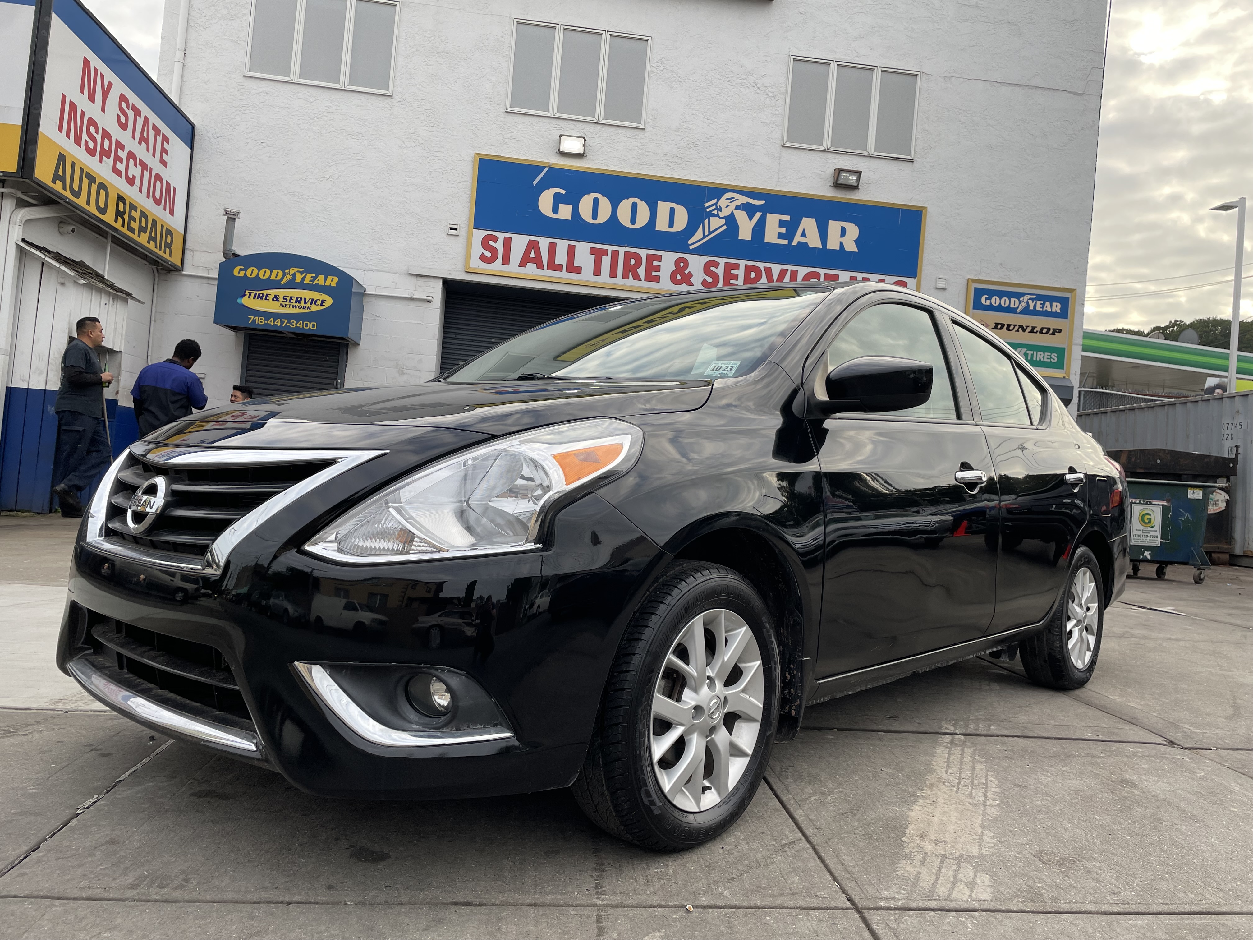
<svg viewBox="0 0 1253 940"><path fill-rule="evenodd" d="M84 1L155 74L163 1ZM1230 315L1235 218L1209 207L1253 198L1250 49L1250 0L1114 0L1088 326Z"/></svg>

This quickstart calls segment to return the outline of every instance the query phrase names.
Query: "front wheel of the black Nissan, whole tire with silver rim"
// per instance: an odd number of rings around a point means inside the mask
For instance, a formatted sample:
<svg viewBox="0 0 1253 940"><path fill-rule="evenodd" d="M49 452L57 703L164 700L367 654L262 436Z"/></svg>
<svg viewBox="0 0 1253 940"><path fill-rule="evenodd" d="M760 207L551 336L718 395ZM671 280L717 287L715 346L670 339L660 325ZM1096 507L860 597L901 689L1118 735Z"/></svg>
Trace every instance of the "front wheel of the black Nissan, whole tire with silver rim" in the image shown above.
<svg viewBox="0 0 1253 940"><path fill-rule="evenodd" d="M693 653L688 644L697 635L704 649ZM703 687L685 678L700 668L697 657L704 661ZM759 708L749 693L761 694ZM674 852L708 842L739 818L762 782L778 697L778 644L752 585L722 565L672 565L618 647L571 786L575 801L600 828L645 849ZM654 761L654 743L667 742ZM719 787L727 791L720 798Z"/></svg>

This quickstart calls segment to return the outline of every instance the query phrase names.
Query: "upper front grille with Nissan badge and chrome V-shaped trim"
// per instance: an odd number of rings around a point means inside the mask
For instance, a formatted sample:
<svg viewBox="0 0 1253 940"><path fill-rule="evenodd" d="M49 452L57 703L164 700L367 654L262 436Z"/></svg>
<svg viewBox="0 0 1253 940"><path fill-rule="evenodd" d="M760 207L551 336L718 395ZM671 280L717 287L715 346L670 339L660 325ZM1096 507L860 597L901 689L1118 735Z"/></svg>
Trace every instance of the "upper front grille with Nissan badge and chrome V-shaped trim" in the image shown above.
<svg viewBox="0 0 1253 940"><path fill-rule="evenodd" d="M182 447L140 441L100 481L88 514L86 541L101 551L154 565L214 574L231 549L271 515L383 452ZM159 505L144 509L137 494Z"/></svg>

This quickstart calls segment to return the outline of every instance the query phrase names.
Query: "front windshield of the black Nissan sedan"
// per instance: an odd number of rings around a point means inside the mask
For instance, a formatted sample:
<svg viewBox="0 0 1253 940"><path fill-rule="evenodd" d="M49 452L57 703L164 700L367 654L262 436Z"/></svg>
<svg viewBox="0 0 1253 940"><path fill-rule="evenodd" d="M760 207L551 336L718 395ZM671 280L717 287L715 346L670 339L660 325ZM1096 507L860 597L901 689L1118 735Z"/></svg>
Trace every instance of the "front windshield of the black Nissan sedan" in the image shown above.
<svg viewBox="0 0 1253 940"><path fill-rule="evenodd" d="M515 336L445 381L733 379L764 362L828 293L826 287L781 287L596 307Z"/></svg>

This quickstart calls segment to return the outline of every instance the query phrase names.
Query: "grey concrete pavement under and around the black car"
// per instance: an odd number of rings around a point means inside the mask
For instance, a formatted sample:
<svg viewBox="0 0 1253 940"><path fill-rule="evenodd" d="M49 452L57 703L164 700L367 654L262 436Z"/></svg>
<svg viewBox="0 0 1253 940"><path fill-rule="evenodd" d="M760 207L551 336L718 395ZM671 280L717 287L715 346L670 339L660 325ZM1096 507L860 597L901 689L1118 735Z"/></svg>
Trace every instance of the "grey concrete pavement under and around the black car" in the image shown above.
<svg viewBox="0 0 1253 940"><path fill-rule="evenodd" d="M76 711L71 539L0 518L0 937L1253 934L1253 570L1133 582L1074 693L970 661L817 706L734 828L663 856L560 791L322 800Z"/></svg>

